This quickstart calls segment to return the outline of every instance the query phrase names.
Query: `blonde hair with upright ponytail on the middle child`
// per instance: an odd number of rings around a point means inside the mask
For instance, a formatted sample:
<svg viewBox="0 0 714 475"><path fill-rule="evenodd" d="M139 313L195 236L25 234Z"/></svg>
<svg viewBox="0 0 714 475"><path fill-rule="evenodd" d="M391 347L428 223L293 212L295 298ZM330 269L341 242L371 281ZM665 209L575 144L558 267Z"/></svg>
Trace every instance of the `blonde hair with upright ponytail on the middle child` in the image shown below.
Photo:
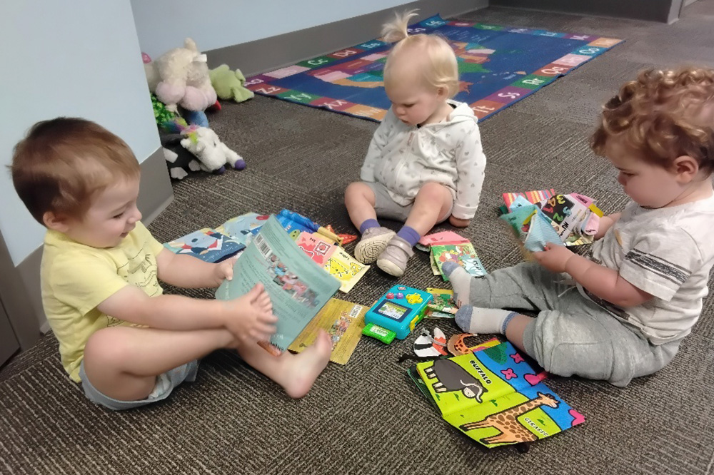
<svg viewBox="0 0 714 475"><path fill-rule="evenodd" d="M423 80L428 86L446 88L448 97L458 93L458 63L453 48L435 34L408 34L409 19L416 16L416 10L396 14L395 19L382 28L382 36L389 43L396 43L387 57L384 65L384 83L391 82L390 59L403 51L418 48L425 55L427 68L423 71Z"/></svg>

